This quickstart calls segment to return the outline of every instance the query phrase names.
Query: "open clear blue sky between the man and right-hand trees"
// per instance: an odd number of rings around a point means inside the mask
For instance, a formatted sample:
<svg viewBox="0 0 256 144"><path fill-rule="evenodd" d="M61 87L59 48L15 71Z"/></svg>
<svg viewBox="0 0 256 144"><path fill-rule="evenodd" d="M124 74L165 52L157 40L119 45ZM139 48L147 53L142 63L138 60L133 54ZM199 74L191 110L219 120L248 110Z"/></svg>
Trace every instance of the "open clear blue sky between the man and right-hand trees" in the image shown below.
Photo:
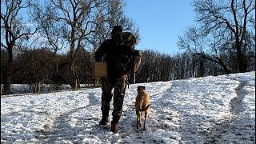
<svg viewBox="0 0 256 144"><path fill-rule="evenodd" d="M126 0L126 16L139 28L138 50L156 50L177 54L178 35L183 35L195 21L192 0Z"/></svg>

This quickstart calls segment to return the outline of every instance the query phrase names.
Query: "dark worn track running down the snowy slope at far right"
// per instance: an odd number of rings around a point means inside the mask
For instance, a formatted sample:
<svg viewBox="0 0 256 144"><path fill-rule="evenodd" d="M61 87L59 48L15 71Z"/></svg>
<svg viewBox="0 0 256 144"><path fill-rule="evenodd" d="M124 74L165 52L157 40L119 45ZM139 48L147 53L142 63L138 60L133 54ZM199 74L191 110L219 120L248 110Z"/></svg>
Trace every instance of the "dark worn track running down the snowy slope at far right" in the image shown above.
<svg viewBox="0 0 256 144"><path fill-rule="evenodd" d="M239 119L242 117L242 113L245 110L244 103L242 101L247 93L246 90L243 90L247 83L242 81L240 78L227 79L240 82L238 87L235 88L237 97L230 101L230 117L223 118L220 122L215 123L215 125L210 129L210 132L206 134L206 143L236 143L238 142L238 139L243 139L245 143L253 142L253 138L245 139L243 137L245 127L241 126L242 120ZM230 141L227 141L229 139L228 137L233 138L230 138Z"/></svg>

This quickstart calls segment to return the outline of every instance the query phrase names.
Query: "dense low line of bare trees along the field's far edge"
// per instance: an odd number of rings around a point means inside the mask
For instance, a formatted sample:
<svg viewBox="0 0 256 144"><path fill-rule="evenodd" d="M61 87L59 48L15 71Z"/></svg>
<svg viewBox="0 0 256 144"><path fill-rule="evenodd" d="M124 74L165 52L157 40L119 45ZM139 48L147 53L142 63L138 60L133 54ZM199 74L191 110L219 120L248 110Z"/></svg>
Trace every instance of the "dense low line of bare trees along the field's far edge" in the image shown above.
<svg viewBox="0 0 256 144"><path fill-rule="evenodd" d="M1 81L6 66L8 53L1 51ZM49 49L26 50L14 58L13 77L11 83L30 84L34 86L33 92L40 92L42 84L53 84L55 90L62 84L70 84L68 75L69 67L61 66L56 73L58 63L65 63L68 54L55 54ZM92 75L94 66L94 53L81 49L78 53L75 70L78 74L78 88L80 84L94 84ZM248 71L255 70L255 60L248 62ZM222 66L215 62L205 60L188 52L170 56L154 50L142 51L142 63L136 74L136 82L159 82L175 79L198 78L207 75L226 74Z"/></svg>

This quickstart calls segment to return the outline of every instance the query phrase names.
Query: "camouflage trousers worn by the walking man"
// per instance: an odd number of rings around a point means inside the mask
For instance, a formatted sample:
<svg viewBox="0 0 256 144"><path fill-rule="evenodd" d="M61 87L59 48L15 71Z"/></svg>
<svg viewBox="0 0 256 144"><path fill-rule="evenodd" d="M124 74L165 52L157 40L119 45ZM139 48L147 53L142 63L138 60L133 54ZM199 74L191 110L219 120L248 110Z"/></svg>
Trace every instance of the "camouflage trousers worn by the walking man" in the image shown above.
<svg viewBox="0 0 256 144"><path fill-rule="evenodd" d="M110 78L102 78L102 111L110 110L110 101L113 97L112 90L114 89L113 112L114 116L122 115L122 105L125 96L128 76L122 75L113 81Z"/></svg>

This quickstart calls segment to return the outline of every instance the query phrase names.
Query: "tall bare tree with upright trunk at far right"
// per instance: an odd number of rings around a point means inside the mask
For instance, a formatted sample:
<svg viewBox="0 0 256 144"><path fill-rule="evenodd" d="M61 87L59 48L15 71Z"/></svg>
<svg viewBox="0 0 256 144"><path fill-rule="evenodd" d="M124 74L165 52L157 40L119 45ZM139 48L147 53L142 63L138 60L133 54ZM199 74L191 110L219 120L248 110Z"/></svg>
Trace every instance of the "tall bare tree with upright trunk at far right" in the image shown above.
<svg viewBox="0 0 256 144"><path fill-rule="evenodd" d="M255 33L250 25L255 25L254 0L195 0L193 6L204 35L214 31L229 35L231 45L228 48L236 51L238 71L245 72L248 49L246 33Z"/></svg>

